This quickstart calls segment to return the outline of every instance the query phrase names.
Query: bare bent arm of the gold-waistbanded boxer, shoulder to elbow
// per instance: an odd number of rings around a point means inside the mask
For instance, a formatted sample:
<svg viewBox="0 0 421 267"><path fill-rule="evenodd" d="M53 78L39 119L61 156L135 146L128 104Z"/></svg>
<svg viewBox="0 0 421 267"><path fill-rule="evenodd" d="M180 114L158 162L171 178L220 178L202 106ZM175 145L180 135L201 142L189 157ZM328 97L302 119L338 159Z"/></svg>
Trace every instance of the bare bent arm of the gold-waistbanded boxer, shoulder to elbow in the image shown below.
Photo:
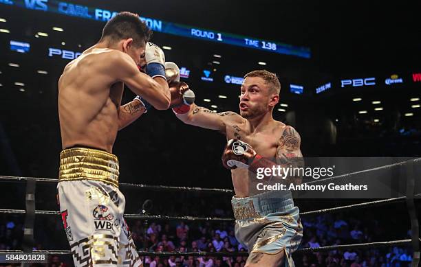
<svg viewBox="0 0 421 267"><path fill-rule="evenodd" d="M168 83L162 77L151 78L139 71L129 55L118 52L112 60L117 79L124 82L133 93L142 96L158 110L168 109L171 95Z"/></svg>

